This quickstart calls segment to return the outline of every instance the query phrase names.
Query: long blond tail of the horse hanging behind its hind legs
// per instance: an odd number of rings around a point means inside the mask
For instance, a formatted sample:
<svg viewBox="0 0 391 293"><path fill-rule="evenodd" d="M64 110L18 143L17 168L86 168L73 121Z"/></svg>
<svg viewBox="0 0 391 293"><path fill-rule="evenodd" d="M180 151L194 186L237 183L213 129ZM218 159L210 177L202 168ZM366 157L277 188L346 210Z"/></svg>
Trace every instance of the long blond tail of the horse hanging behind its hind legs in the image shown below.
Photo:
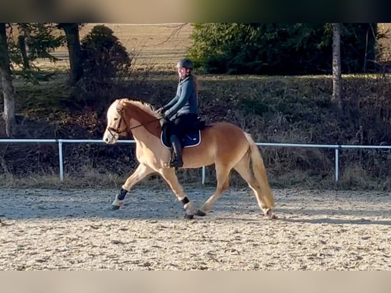
<svg viewBox="0 0 391 293"><path fill-rule="evenodd" d="M267 205L268 208L274 207L274 196L273 191L269 186L268 180L267 180L267 174L265 165L263 164L263 159L261 156L261 153L259 152L259 149L257 145L255 144L253 138L249 133L245 133L247 140L250 144L250 155L251 155L251 163L253 165L253 173L255 180L258 182L259 186L261 187L261 196Z"/></svg>

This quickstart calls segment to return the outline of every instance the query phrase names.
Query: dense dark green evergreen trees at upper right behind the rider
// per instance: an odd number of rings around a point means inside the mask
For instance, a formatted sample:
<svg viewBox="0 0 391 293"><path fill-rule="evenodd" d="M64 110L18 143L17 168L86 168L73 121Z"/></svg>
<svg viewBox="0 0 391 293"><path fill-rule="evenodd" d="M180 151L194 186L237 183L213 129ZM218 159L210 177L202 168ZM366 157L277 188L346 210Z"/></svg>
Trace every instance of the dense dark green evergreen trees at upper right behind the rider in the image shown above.
<svg viewBox="0 0 391 293"><path fill-rule="evenodd" d="M331 23L194 23L190 37L188 57L208 73L332 73ZM340 38L343 72L376 69L376 23L344 23Z"/></svg>

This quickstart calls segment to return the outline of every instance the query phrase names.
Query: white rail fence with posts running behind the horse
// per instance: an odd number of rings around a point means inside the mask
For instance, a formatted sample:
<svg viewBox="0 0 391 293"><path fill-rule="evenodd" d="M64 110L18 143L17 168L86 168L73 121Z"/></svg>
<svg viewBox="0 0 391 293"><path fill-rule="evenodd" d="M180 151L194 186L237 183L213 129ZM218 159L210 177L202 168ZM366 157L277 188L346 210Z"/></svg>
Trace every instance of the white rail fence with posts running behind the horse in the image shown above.
<svg viewBox="0 0 391 293"><path fill-rule="evenodd" d="M57 143L60 162L60 180L64 181L63 143L104 143L102 139L0 139L0 143ZM118 140L117 143L135 143L134 140ZM321 148L335 150L335 181L338 181L338 156L342 149L391 149L390 145L353 145L353 144L306 144L306 143L273 143L256 142L262 147L285 147L285 148ZM202 167L202 184L205 184L205 166Z"/></svg>

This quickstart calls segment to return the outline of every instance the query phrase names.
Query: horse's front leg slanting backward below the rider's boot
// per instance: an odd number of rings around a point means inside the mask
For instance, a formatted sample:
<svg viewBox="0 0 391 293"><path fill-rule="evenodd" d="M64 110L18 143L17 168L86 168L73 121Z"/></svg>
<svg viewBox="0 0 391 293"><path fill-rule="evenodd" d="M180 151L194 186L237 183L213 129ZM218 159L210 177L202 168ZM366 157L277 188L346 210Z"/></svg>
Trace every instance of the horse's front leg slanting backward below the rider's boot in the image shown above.
<svg viewBox="0 0 391 293"><path fill-rule="evenodd" d="M175 174L174 168L169 169L162 169L161 172L159 172L160 175L163 177L163 179L168 183L169 187L175 195L177 196L177 199L183 203L183 208L186 210L185 218L193 218L194 213L197 211L193 208L193 204L191 201L188 200L186 197L185 192L183 191L182 185L178 181L178 177Z"/></svg>

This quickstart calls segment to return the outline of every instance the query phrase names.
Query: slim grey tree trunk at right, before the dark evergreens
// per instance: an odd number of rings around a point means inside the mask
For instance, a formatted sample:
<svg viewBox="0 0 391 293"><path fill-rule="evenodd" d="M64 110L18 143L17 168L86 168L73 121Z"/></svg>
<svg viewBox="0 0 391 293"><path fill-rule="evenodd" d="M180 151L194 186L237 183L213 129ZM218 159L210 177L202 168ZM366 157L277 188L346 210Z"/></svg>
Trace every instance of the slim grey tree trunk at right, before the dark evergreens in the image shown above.
<svg viewBox="0 0 391 293"><path fill-rule="evenodd" d="M333 95L332 102L342 109L342 82L341 82L341 27L340 23L333 23Z"/></svg>

